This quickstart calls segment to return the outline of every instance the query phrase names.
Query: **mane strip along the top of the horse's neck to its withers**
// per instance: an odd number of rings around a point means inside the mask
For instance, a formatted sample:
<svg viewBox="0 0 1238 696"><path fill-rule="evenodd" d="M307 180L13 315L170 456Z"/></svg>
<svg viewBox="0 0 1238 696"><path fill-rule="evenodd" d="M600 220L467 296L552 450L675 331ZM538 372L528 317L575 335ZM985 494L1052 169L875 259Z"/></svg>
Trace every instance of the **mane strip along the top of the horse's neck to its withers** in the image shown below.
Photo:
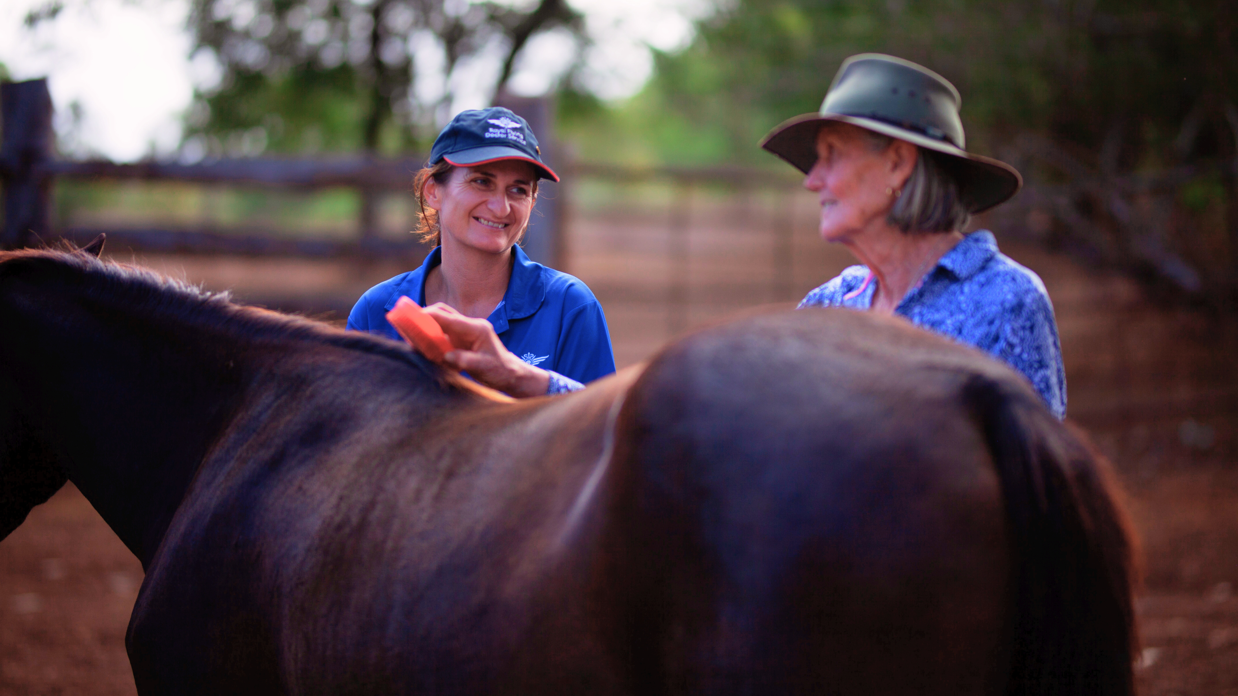
<svg viewBox="0 0 1238 696"><path fill-rule="evenodd" d="M229 292L210 292L199 285L168 277L151 269L105 261L66 243L56 249L22 249L0 253L0 279L19 271L63 274L66 280L87 281L85 290L99 300L115 298L125 306L222 329L238 338L274 338L318 342L395 360L416 369L444 390L470 391L491 400L506 395L444 370L410 347L359 331L342 331L323 322L238 305Z"/></svg>

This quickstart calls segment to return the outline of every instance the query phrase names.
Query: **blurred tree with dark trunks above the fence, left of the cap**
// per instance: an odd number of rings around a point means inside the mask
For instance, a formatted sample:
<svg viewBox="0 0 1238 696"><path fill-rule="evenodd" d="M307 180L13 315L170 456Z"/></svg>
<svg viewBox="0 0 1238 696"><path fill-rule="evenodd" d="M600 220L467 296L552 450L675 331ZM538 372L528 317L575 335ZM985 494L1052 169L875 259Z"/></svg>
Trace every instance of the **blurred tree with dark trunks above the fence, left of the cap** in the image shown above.
<svg viewBox="0 0 1238 696"><path fill-rule="evenodd" d="M196 95L186 142L234 156L407 151L449 108L467 58L503 56L496 93L537 32L583 36L565 0L193 0L189 25L196 56L223 76ZM417 79L438 83L428 103Z"/></svg>

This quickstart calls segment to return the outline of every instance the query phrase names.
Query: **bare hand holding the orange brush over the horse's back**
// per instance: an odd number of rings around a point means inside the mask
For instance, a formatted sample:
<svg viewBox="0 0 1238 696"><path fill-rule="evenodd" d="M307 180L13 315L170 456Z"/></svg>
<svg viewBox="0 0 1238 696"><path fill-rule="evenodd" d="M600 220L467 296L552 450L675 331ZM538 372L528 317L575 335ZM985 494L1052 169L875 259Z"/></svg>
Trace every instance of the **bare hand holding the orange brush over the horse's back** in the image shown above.
<svg viewBox="0 0 1238 696"><path fill-rule="evenodd" d="M443 357L443 363L464 370L482 384L511 396L541 396L550 388L550 373L517 358L499 341L494 326L487 320L465 317L454 307L436 302L426 313L438 322L456 350Z"/></svg>

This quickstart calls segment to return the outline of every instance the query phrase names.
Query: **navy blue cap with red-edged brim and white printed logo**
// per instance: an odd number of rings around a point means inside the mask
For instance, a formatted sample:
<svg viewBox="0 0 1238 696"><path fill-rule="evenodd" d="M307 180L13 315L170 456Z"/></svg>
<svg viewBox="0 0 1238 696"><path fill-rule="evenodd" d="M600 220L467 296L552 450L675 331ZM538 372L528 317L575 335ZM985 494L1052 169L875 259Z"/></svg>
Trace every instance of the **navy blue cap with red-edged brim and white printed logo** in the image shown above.
<svg viewBox="0 0 1238 696"><path fill-rule="evenodd" d="M537 168L537 178L558 181L558 175L541 161L541 147L529 121L503 107L456 114L430 150L430 166L443 160L461 167L524 160Z"/></svg>

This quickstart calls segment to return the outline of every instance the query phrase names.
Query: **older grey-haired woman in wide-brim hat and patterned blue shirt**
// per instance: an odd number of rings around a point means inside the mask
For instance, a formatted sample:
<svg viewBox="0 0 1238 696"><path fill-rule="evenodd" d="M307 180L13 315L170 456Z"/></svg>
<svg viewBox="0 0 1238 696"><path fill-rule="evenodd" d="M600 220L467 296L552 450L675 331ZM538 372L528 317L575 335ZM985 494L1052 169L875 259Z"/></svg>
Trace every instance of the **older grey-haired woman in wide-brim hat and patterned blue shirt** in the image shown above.
<svg viewBox="0 0 1238 696"><path fill-rule="evenodd" d="M963 233L973 213L1023 181L1005 162L964 150L959 103L937 73L863 53L843 62L820 113L765 136L761 147L807 175L821 237L864 264L800 307L904 316L1005 360L1065 417L1066 373L1044 284L998 251L993 233Z"/></svg>

